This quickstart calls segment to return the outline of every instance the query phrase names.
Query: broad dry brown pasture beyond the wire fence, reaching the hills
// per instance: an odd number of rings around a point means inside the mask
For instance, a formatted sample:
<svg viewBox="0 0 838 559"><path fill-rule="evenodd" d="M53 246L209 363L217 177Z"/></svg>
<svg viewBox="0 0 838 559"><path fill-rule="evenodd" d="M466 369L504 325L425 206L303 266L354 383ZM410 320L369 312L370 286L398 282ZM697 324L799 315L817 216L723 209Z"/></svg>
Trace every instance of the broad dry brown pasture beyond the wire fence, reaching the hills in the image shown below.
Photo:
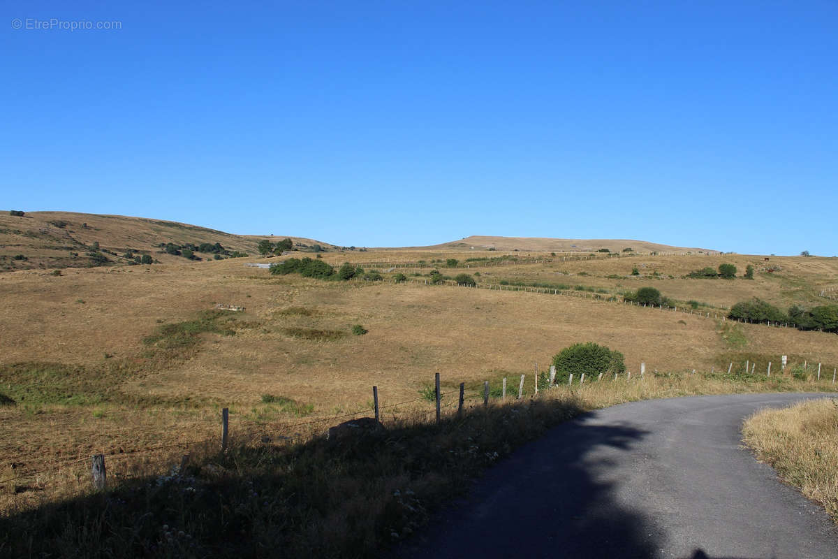
<svg viewBox="0 0 838 559"><path fill-rule="evenodd" d="M89 230L72 229L80 216L95 229L101 246L114 251L153 250L162 241L206 241L253 254L262 238L159 223L153 224L158 229L154 236L139 218L129 219L139 220L133 231L124 224L108 229L116 218L104 216L39 214L31 220L71 221L72 226L44 228L57 236L73 230L73 238L87 245L94 241L85 236ZM8 228L9 219L28 218L3 217L0 225ZM10 254L18 248L5 246L3 251ZM322 258L333 265L400 263L407 267L396 272L408 277L427 274L427 267L418 267L425 261L451 275L478 272L481 282L566 283L608 294L651 285L670 298L708 303L710 307L702 308L719 312L754 296L783 307L823 303L818 286L835 284L838 278L838 259L817 257L771 257L770 264L782 271L758 272L753 281L682 276L722 262L736 264L741 275L748 263L761 264L762 257L577 260L549 252L515 252L520 263L466 262L504 254L509 253L468 246L328 251ZM51 257L44 253L44 266ZM458 259L458 267L445 268L449 258ZM835 334L741 324L732 343L725 330L729 326L712 318L604 300L411 282L326 282L296 274L272 276L245 266L282 257L187 261L160 255L159 260L151 266L64 268L61 275L48 269L0 274L0 393L14 401L0 406L0 419L15 427L0 434L0 479L85 460L92 453L131 453L217 437L224 406L230 407L231 423L240 432L271 427L293 437L303 428L283 425L368 409L372 386L379 387L382 406L416 399L432 384L435 372L442 374L446 391L460 382L476 388L484 380L497 387L504 376L512 386L512 378L531 376L536 363L546 370L552 355L581 341L622 352L634 375L641 361L649 375L691 370L701 375L726 370L729 361L741 366L746 359L757 362L758 370L772 361L776 371L780 355L789 355L794 364L822 363L830 371L838 366ZM630 275L633 267L641 271L639 277ZM215 310L218 303L245 310ZM354 324L368 333L351 334ZM686 393L742 390L722 385L696 386ZM597 405L625 397L621 392ZM325 427L328 423L311 428ZM114 472L161 468L165 461L142 456L124 463L115 458ZM52 498L49 476L24 481L5 486L3 507Z"/></svg>

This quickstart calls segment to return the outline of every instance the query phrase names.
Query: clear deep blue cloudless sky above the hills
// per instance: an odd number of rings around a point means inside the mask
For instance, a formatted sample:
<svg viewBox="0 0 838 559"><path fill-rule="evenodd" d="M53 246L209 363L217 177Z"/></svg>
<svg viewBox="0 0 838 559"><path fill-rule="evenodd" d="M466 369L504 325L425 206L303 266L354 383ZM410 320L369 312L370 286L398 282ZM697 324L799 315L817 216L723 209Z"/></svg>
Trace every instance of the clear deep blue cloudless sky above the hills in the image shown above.
<svg viewBox="0 0 838 559"><path fill-rule="evenodd" d="M2 11L4 208L838 254L835 0Z"/></svg>

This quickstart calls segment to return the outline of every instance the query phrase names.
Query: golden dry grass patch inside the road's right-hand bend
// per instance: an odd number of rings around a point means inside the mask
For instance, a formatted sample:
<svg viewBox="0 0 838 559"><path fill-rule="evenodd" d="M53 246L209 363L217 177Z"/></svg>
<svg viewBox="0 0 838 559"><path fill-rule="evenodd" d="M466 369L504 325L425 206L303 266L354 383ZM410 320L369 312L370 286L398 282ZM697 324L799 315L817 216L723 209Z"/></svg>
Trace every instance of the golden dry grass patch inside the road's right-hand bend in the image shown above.
<svg viewBox="0 0 838 559"><path fill-rule="evenodd" d="M758 411L747 418L742 435L760 461L823 505L838 524L838 400Z"/></svg>

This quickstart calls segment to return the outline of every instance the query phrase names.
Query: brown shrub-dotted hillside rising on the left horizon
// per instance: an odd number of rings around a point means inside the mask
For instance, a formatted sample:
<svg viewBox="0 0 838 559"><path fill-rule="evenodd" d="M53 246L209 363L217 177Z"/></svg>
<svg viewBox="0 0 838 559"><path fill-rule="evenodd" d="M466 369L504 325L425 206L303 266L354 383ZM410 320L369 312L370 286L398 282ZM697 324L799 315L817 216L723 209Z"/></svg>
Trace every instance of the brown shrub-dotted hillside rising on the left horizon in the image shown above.
<svg viewBox="0 0 838 559"><path fill-rule="evenodd" d="M303 251L314 245L326 250L334 246L313 239L288 236ZM269 239L279 241L286 236L233 235L176 221L152 220L124 215L77 214L63 211L26 212L23 216L0 213L0 272L32 268L88 267L93 265L127 264L123 255L147 254L161 262L185 262L183 256L168 254L161 243L175 245L220 243L228 253L238 251L258 254L256 244ZM96 249L95 243L99 243ZM107 259L92 256L100 253ZM91 254L92 253L92 254ZM213 253L196 252L203 260L212 260ZM229 255L220 255L225 257Z"/></svg>

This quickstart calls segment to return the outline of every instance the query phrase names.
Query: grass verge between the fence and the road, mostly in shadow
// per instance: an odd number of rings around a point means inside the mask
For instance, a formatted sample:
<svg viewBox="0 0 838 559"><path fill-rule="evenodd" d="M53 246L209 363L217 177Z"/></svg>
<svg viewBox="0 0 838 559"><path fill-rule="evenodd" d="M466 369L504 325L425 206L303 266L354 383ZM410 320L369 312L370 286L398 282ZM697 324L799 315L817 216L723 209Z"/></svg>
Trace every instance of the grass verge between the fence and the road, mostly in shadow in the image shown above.
<svg viewBox="0 0 838 559"><path fill-rule="evenodd" d="M439 424L427 402L396 406L382 417L385 432L348 440L329 441L323 422L294 425L298 432L290 439L264 429L232 438L226 453L194 450L183 470L125 479L105 493L33 510L7 510L0 551L198 557L282 549L287 556L375 556L463 494L484 468L583 411L649 398L813 389L831 386L672 373L561 386L534 398L493 399L485 408L478 393L460 415L452 398L443 401ZM269 405L285 401L266 396ZM89 464L79 468L80 478L85 468L89 476Z"/></svg>

